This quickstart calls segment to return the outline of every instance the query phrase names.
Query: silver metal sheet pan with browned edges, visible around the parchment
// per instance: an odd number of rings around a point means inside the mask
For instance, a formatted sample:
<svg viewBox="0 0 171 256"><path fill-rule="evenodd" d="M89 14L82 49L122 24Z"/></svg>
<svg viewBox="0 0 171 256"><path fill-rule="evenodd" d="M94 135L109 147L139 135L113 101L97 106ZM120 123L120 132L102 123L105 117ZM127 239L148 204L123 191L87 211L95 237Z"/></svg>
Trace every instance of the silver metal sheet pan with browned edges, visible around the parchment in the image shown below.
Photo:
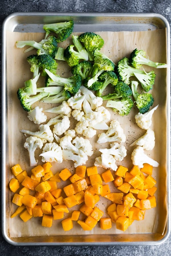
<svg viewBox="0 0 171 256"><path fill-rule="evenodd" d="M167 63L170 63L169 61L169 26L167 21L164 19L164 17L157 15L157 14L51 14L51 13L15 13L11 16L9 16L3 26L3 61L2 61L2 93L3 93L3 104L2 104L2 171L3 171L3 179L2 179L2 223L3 223L3 235L7 241L9 241L12 244L16 245L32 245L32 244L38 244L38 245L77 245L77 244L103 244L103 245L115 245L115 244L158 244L166 240L170 233L170 70L168 69L167 72L164 74L164 79L166 82L164 83L166 85L165 88L165 94L164 94L164 100L163 108L160 109L160 113L164 115L164 121L165 126L162 127L162 130L164 129L164 148L166 148L166 151L162 156L164 156L164 160L162 161L162 167L164 168L165 177L167 177L167 188L163 189L160 181L160 189L162 193L167 193L166 199L167 199L167 206L168 206L168 221L166 224L166 228L164 233L163 232L157 232L156 230L150 233L147 232L137 232L135 235L133 232L127 233L127 234L121 234L122 232L105 232L103 235L96 234L87 234L84 233L74 235L71 234L70 236L54 236L54 234L48 235L48 236L23 236L21 237L11 237L9 232L9 225L10 225L10 217L9 217L9 208L10 208L10 202L9 202L9 189L8 184L10 180L10 163L11 163L11 155L9 154L10 149L8 145L10 145L9 141L11 142L10 135L10 129L11 126L9 125L9 118L11 117L11 111L13 110L13 107L11 107L13 102L13 97L10 98L9 94L11 93L9 89L10 81L6 80L9 71L6 68L6 61L9 60L9 44L7 42L7 34L11 32L36 32L37 34L40 32L43 32L42 30L42 24L44 23L52 23L52 22L58 22L60 20L69 20L73 18L75 22L74 31L75 32L84 32L84 31L144 31L144 35L148 30L164 30L164 33L162 34L161 38L165 40L166 42L166 51L165 51L165 57ZM105 32L100 32L101 34ZM147 35L147 34L146 34ZM163 38L164 35L164 38ZM106 49L107 51L107 49ZM107 52L106 52L107 54ZM13 68L13 63L11 63L11 68ZM156 95L157 96L157 95ZM9 101L9 99L12 100ZM166 139L167 138L167 139ZM13 141L13 139L12 139ZM158 182L159 178L162 178L162 176L158 176ZM163 189L163 191L162 191ZM159 216L161 217L161 211L162 209L158 209ZM167 214L167 213L166 213ZM160 220L159 218L156 218L157 220ZM163 234L161 234L163 233Z"/></svg>

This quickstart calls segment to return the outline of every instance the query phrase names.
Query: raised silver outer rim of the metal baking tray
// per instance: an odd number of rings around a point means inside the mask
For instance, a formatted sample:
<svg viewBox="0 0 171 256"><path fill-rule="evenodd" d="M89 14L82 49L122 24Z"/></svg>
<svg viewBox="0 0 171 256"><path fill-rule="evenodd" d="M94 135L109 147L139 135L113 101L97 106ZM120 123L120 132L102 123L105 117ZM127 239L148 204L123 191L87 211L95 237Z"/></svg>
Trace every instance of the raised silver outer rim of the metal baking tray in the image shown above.
<svg viewBox="0 0 171 256"><path fill-rule="evenodd" d="M168 132L168 143L167 143L167 170L168 170L168 181L167 181L167 201L168 201L168 220L167 220L167 232L165 236L158 240L158 241L135 241L135 242L117 242L117 241L111 241L111 242L15 242L9 238L9 236L6 233L6 217L5 217L5 203L6 203L6 186L5 186L5 178L6 174L4 170L6 169L6 34L5 30L7 28L7 24L10 19L17 17L17 16L67 16L67 17L100 17L100 16L107 16L107 17L134 17L136 18L141 17L141 18L159 18L164 22L164 25L166 27L166 44L167 44L167 62L170 63L170 26L167 21L167 19L162 16L161 14L158 13L70 13L70 12L58 12L58 13L50 13L50 12L15 12L10 15L8 15L5 20L3 21L2 25L2 57L1 57L1 95L2 95L2 100L1 100L1 145L2 145L2 152L1 152L1 170L2 171L2 176L1 176L1 186L2 186L2 193L1 193L1 223L2 223L2 234L3 238L10 244L12 245L17 245L17 246L25 246L25 245L63 245L63 246L71 246L71 245L159 245L161 243L164 243L171 232L171 210L170 210L170 203L171 203L171 186L170 186L170 69L168 68L167 70L167 86L168 86L168 98L167 98L167 110L166 110L166 115L168 118L168 124L167 124L167 132ZM5 104L4 104L5 103Z"/></svg>

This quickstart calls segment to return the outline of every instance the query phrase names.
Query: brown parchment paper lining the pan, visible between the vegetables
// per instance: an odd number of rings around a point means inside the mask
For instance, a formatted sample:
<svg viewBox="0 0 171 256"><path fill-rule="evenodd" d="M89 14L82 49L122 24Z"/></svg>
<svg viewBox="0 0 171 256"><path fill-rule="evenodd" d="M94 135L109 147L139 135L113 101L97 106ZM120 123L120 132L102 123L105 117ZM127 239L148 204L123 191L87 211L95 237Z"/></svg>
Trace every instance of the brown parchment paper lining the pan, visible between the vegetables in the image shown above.
<svg viewBox="0 0 171 256"><path fill-rule="evenodd" d="M140 31L140 32L97 32L100 34L105 41L105 44L101 51L105 53L114 63L117 63L119 59L123 57L129 57L131 51L135 48L144 49L149 56L149 59L153 61L166 63L166 31L165 29L154 30L154 31ZM31 131L37 131L38 125L34 124L27 118L27 112L25 112L19 100L17 99L17 90L19 87L24 86L25 80L32 78L32 73L30 72L30 66L26 60L27 56L30 54L35 54L35 50L29 53L23 53L23 49L17 49L15 42L18 40L35 40L39 42L44 38L43 33L18 33L7 31L7 98L8 98L8 126L9 126L9 180L13 177L11 174L11 167L17 163L21 165L23 170L27 170L30 174L31 168L29 167L29 157L28 151L24 148L26 137L20 133L20 129L27 129ZM71 43L68 39L64 43L60 43L59 46L66 47ZM70 67L64 64L63 61L58 62L57 73L62 77L69 77ZM144 66L145 71L150 71L152 68ZM160 163L158 168L153 168L152 176L157 180L157 191L155 193L157 200L157 207L150 210L146 210L145 218L143 221L134 221L133 224L125 231L127 234L133 233L160 233L162 234L167 221L167 201L166 201L166 191L167 191L167 119L166 119L166 108L167 108L167 84L166 84L166 69L155 69L156 79L152 90L154 97L154 105L159 104L158 109L154 112L152 118L151 129L154 129L156 144L152 151L146 151L146 154ZM38 86L44 86L44 78L40 78ZM106 92L107 93L107 92ZM105 106L105 102L103 106ZM35 104L36 106L37 104ZM39 104L43 109L51 108L52 104ZM127 149L127 156L122 162L116 162L117 165L127 166L130 170L132 167L131 153L134 147L129 147L133 141L142 136L145 130L139 128L135 123L135 114L138 113L136 107L131 110L128 116L121 117L119 114L111 112L111 120L117 119L124 129L126 135L126 142L123 143ZM54 115L49 114L48 119ZM109 122L110 123L110 122ZM108 124L109 124L108 123ZM74 128L75 123L71 122L71 129ZM97 144L97 135L102 131L97 131L97 134L90 139L93 145L94 154L89 157L87 161L87 166L92 166L94 160L97 156L100 156L99 148L109 147L109 144ZM40 154L41 150L36 151L36 158ZM42 164L41 159L38 158L38 164ZM63 168L69 168L69 170L74 174L75 168L71 161L63 161L62 164L54 164L52 171L55 174L60 172ZM98 168L101 174L104 169ZM114 171L112 171L114 175ZM69 184L69 182L58 183L58 188ZM109 183L111 192L117 191L112 182ZM118 191L119 192L119 191ZM16 205L11 203L13 198L13 193L10 192L10 216L17 208ZM65 196L64 194L62 194ZM108 216L106 213L106 208L112 202L102 198L97 203L97 206L104 211L103 217ZM71 216L74 209L78 209L81 205L73 207L70 209L68 214L64 214L64 218ZM109 217L109 216L108 216ZM85 216L80 214L80 219L84 220ZM23 222L19 216L15 218L9 218L9 232L10 237L21 237L21 236L46 236L46 235L66 235L63 231L61 220L54 220L51 228L45 228L41 226L41 217L31 218L28 222ZM91 231L84 231L74 222L74 228L67 232L68 234L121 234L120 230L115 228L115 223L112 224L112 228L109 230L100 229L99 223Z"/></svg>

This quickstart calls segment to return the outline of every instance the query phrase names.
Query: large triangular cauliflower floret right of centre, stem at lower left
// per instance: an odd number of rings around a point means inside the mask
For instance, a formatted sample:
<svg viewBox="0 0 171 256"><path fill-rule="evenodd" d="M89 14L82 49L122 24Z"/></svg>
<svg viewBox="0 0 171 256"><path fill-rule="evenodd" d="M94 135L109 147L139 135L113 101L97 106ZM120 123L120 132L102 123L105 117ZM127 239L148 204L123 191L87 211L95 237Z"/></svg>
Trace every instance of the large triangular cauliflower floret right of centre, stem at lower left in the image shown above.
<svg viewBox="0 0 171 256"><path fill-rule="evenodd" d="M123 129L117 120L113 120L110 122L109 130L106 133L101 133L98 135L99 139L97 143L105 143L105 142L125 142L126 136L123 132Z"/></svg>

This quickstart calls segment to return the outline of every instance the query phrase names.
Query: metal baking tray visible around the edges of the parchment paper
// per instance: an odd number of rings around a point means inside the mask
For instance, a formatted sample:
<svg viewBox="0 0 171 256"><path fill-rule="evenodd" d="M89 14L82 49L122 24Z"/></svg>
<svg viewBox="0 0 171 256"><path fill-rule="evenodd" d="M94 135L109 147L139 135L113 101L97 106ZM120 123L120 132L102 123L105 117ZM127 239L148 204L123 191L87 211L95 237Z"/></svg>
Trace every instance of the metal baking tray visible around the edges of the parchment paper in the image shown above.
<svg viewBox="0 0 171 256"><path fill-rule="evenodd" d="M168 220L164 234L109 234L75 236L41 236L11 238L9 235L9 154L7 124L6 31L44 32L45 23L74 20L74 31L147 31L166 28L167 63L170 63L170 28L168 21L155 13L13 13L3 22L2 30L2 233L12 245L158 245L170 234L170 70L167 71L167 204Z"/></svg>

